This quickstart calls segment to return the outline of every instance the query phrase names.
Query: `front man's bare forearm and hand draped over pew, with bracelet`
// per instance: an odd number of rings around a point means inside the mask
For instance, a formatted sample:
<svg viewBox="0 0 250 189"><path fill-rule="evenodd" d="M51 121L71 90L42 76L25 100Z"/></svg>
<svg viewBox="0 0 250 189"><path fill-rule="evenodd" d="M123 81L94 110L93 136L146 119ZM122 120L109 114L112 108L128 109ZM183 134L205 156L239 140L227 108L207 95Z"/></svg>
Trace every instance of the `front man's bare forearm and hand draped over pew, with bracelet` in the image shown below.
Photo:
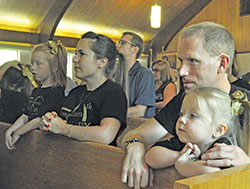
<svg viewBox="0 0 250 189"><path fill-rule="evenodd" d="M148 185L149 170L144 160L145 146L155 143L167 133L152 118L124 136L122 145L133 138L140 142L133 142L126 146L127 154L123 161L122 182L128 183L129 187L134 188L146 187Z"/></svg>

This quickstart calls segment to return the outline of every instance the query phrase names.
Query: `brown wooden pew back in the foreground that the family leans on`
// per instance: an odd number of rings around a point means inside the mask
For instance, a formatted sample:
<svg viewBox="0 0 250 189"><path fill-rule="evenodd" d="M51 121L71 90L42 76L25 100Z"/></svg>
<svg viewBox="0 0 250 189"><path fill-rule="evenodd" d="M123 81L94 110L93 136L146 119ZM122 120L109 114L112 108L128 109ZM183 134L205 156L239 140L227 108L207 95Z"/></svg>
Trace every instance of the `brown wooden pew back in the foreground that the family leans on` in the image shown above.
<svg viewBox="0 0 250 189"><path fill-rule="evenodd" d="M35 130L10 151L4 144L7 128L0 123L0 188L128 188L120 181L125 156L120 148ZM183 177L170 167L154 171L153 188L247 188L249 176L245 165L179 180Z"/></svg>

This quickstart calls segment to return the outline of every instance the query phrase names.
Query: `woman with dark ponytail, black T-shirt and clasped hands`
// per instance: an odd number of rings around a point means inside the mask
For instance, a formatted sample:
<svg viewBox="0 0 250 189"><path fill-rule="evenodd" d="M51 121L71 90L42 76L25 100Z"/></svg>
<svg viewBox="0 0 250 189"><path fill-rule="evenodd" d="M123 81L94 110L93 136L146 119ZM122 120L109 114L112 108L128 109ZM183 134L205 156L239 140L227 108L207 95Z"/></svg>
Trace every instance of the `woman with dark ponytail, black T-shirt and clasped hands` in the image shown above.
<svg viewBox="0 0 250 189"><path fill-rule="evenodd" d="M124 58L109 37L87 32L77 44L73 62L75 76L86 85L70 92L59 116L48 112L43 117L44 130L115 146L126 126Z"/></svg>

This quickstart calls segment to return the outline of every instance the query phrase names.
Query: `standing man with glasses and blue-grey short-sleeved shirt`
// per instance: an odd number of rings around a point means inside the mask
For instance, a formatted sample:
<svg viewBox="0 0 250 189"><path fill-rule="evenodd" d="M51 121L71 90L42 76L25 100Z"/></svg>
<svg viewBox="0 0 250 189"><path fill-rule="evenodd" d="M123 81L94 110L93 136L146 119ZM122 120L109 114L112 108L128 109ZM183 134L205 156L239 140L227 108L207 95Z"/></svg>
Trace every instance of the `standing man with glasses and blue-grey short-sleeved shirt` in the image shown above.
<svg viewBox="0 0 250 189"><path fill-rule="evenodd" d="M144 49L140 36L124 32L116 43L116 49L124 58L129 74L128 118L152 118L155 115L155 81L152 71L137 60Z"/></svg>

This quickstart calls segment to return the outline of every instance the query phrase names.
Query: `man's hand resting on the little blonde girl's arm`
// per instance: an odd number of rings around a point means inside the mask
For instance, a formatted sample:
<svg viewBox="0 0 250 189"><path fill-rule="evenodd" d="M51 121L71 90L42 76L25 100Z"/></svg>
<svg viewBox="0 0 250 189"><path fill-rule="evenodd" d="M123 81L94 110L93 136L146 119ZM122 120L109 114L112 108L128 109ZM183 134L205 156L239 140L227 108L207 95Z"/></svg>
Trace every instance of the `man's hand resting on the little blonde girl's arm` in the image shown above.
<svg viewBox="0 0 250 189"><path fill-rule="evenodd" d="M229 167L250 163L250 157L238 146L214 144L214 147L202 155L211 167Z"/></svg>

